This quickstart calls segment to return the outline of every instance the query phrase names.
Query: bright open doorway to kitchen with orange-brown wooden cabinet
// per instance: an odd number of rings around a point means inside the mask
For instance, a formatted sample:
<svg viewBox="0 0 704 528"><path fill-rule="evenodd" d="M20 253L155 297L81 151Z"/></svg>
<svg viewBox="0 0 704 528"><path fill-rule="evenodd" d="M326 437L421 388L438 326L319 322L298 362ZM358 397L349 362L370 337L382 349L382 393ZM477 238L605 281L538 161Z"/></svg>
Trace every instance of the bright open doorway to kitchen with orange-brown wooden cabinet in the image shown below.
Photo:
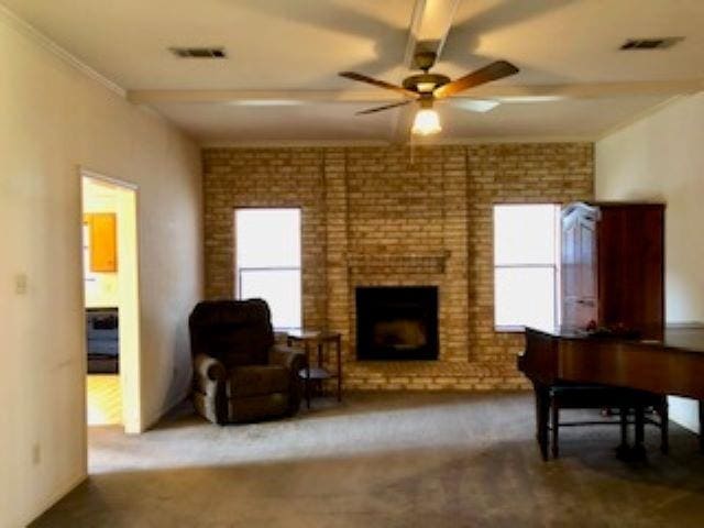
<svg viewBox="0 0 704 528"><path fill-rule="evenodd" d="M136 188L81 170L88 426L141 432Z"/></svg>

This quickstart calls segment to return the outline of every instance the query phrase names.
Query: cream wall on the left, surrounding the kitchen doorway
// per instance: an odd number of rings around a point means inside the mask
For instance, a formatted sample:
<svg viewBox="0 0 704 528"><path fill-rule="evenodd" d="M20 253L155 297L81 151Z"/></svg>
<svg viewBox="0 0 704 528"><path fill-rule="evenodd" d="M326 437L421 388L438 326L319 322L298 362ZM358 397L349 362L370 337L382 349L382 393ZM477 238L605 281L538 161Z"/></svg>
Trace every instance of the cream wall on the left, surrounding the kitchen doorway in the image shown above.
<svg viewBox="0 0 704 528"><path fill-rule="evenodd" d="M139 185L147 424L187 391L186 318L202 286L196 145L37 42L0 10L2 527L86 473L78 166Z"/></svg>

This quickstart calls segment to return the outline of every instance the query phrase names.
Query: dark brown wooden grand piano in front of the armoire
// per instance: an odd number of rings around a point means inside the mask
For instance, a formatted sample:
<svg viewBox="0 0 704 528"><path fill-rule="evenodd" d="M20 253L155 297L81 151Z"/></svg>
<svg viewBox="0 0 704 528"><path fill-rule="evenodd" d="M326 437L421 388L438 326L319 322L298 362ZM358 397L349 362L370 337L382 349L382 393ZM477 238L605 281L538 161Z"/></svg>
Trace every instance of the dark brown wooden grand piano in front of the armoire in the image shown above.
<svg viewBox="0 0 704 528"><path fill-rule="evenodd" d="M666 327L661 340L594 337L587 332L526 329L518 369L536 393L537 439L548 457L549 389L565 383L594 383L700 400L704 431L704 326ZM641 439L636 439L636 442ZM641 446L635 446L642 449ZM704 435L700 435L704 452Z"/></svg>

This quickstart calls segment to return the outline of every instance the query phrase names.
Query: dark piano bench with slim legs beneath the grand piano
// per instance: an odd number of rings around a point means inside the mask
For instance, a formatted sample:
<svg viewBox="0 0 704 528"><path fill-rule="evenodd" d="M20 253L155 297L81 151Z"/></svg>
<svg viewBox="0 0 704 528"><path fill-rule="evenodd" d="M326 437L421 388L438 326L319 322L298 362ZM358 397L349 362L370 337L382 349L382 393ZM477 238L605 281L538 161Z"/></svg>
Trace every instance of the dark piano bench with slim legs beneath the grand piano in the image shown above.
<svg viewBox="0 0 704 528"><path fill-rule="evenodd" d="M642 446L645 424L660 428L660 450L667 453L668 443L668 398L667 396L637 391L634 388L612 387L597 384L564 384L553 385L549 389L550 397L550 429L552 431L552 457L560 454L560 427L619 425L622 433L622 449L628 443L628 425L636 426L636 448ZM658 421L646 418L645 410L652 407L660 419ZM560 422L560 409L619 409L618 422L606 420ZM628 411L634 410L634 420L628 421Z"/></svg>

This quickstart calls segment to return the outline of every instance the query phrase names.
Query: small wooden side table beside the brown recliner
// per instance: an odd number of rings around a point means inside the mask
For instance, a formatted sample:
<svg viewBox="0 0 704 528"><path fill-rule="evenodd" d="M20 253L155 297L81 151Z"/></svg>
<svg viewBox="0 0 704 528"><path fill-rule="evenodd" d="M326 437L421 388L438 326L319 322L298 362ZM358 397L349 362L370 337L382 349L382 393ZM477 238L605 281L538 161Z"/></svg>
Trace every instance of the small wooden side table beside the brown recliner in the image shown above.
<svg viewBox="0 0 704 528"><path fill-rule="evenodd" d="M324 380L337 380L338 402L342 402L342 336L340 332L327 332L321 330L295 330L288 332L288 346L301 346L306 352L306 367L298 375L306 383L306 404L310 408L310 386L314 383L322 383ZM326 367L324 352L331 343L336 344L337 372ZM317 352L316 363L311 366L311 352Z"/></svg>

